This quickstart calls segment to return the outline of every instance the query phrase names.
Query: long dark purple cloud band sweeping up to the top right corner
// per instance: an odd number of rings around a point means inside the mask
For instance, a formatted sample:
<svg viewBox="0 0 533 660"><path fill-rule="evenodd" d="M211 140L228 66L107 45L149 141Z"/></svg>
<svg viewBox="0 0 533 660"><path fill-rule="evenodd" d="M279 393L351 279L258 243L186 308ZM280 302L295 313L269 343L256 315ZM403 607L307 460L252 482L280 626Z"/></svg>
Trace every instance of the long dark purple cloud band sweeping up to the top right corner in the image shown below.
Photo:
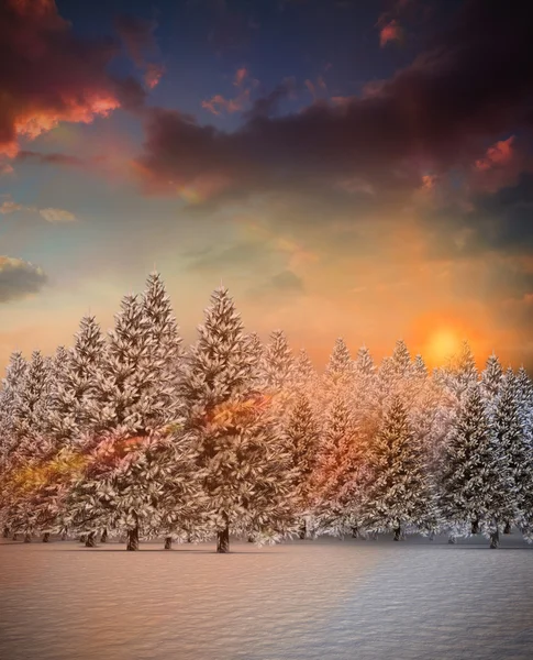
<svg viewBox="0 0 533 660"><path fill-rule="evenodd" d="M219 195L242 197L362 177L389 195L414 190L421 164L436 174L469 168L487 141L529 127L532 23L524 11L468 2L431 50L371 95L318 100L284 117L249 113L231 133L151 109L136 158L141 183L146 193L171 195L169 180L224 173L231 184Z"/></svg>

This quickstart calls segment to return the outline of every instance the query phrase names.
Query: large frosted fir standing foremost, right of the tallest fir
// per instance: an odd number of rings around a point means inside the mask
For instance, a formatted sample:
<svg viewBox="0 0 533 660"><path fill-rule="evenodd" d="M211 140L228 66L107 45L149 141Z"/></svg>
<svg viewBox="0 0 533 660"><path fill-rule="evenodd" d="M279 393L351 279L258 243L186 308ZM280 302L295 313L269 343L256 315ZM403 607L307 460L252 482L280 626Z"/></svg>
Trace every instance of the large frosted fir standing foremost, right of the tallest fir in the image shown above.
<svg viewBox="0 0 533 660"><path fill-rule="evenodd" d="M185 431L197 452L216 551L227 552L231 532L260 540L291 529L290 454L256 392L249 344L225 288L213 293L198 334L180 389Z"/></svg>

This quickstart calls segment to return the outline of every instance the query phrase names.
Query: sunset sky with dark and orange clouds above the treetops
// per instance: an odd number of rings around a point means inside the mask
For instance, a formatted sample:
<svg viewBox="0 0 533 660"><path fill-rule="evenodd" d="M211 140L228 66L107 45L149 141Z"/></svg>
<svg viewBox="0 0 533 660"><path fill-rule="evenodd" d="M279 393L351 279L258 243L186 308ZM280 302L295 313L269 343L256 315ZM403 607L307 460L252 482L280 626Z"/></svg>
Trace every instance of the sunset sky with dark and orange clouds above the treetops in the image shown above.
<svg viewBox="0 0 533 660"><path fill-rule="evenodd" d="M533 367L522 0L0 0L0 369L163 275L337 337Z"/></svg>

